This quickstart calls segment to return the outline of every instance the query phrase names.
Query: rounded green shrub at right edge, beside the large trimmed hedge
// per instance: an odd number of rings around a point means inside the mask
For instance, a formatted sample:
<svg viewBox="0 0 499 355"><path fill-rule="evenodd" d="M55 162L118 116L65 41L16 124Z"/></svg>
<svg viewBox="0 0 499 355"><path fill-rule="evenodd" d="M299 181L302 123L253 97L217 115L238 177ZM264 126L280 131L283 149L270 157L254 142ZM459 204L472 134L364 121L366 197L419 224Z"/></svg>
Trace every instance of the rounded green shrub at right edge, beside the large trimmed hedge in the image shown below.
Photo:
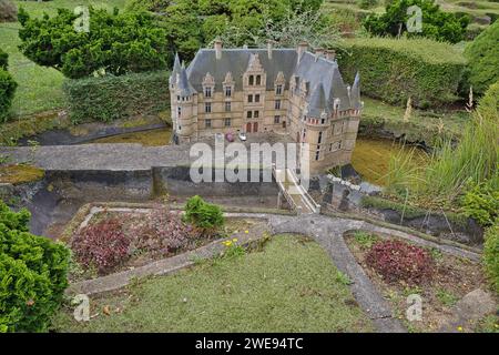
<svg viewBox="0 0 499 355"><path fill-rule="evenodd" d="M467 45L465 57L468 59L469 74L467 84L482 94L499 81L499 22L489 26L475 41ZM467 89L467 88L465 88Z"/></svg>

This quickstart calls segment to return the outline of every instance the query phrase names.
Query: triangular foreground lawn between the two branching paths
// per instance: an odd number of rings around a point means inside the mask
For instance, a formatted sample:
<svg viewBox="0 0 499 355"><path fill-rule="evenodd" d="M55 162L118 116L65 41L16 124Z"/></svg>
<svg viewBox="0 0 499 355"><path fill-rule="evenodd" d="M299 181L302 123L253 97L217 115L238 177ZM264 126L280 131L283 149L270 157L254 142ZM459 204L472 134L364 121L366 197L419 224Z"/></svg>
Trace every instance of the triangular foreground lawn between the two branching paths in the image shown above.
<svg viewBox="0 0 499 355"><path fill-rule="evenodd" d="M86 324L71 308L57 332L369 332L373 325L315 242L273 237L262 252L202 262L91 301ZM111 315L103 315L108 306ZM116 308L119 311L116 311Z"/></svg>

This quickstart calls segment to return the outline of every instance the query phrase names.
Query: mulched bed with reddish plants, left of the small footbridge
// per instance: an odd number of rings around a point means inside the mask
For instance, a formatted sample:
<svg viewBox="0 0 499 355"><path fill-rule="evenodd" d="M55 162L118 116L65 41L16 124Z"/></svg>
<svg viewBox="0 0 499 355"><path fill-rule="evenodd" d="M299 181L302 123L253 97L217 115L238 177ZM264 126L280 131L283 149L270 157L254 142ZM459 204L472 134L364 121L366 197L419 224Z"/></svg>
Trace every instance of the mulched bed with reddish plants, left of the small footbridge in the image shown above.
<svg viewBox="0 0 499 355"><path fill-rule="evenodd" d="M154 207L146 212L103 211L77 231L69 245L73 252L70 281L95 278L146 265L201 247L238 231L249 233L252 219L227 219L220 231L196 229L180 211Z"/></svg>

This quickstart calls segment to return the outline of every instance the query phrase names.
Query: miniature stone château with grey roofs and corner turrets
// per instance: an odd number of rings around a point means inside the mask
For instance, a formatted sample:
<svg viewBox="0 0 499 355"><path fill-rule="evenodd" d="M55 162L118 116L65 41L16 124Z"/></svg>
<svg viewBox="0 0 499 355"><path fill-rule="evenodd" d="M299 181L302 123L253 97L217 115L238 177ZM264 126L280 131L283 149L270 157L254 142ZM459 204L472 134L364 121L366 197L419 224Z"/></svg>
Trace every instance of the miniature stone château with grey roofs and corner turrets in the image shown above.
<svg viewBox="0 0 499 355"><path fill-rule="evenodd" d="M363 110L359 77L344 83L334 51L200 50L170 78L175 143L215 133L286 133L309 144L310 172L350 162Z"/></svg>

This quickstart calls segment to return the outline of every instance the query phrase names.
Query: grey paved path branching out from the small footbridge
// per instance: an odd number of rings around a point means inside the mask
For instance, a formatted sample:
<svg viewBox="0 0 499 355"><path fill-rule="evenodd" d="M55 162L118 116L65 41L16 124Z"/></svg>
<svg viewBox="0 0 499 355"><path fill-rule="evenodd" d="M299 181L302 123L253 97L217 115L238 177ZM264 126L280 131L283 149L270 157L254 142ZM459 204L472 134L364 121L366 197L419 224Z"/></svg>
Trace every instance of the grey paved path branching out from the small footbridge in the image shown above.
<svg viewBox="0 0 499 355"><path fill-rule="evenodd" d="M316 214L286 216L274 214L227 213L226 215L233 217L265 219L267 220L268 229L273 234L291 233L313 237L327 251L338 270L347 274L353 281L350 290L361 308L373 320L378 332L405 332L405 328L398 320L393 317L393 312L389 304L370 282L369 277L365 274L361 266L357 264L354 255L350 253L343 237L347 231L366 230L377 233L386 233L406 239L424 246L436 247L442 252L456 256L468 257L475 261L478 261L480 257L478 254L469 251L449 245L440 245L415 237L400 231L379 227L364 221L334 219ZM252 233L252 235L240 235L238 240L240 243L247 244L258 240L259 237L259 233ZM69 292L94 294L116 290L129 284L134 277L170 274L180 268L194 265L194 260L196 258L213 257L222 250L223 246L220 241L213 242L196 251L165 258L143 267L73 284L71 285Z"/></svg>

